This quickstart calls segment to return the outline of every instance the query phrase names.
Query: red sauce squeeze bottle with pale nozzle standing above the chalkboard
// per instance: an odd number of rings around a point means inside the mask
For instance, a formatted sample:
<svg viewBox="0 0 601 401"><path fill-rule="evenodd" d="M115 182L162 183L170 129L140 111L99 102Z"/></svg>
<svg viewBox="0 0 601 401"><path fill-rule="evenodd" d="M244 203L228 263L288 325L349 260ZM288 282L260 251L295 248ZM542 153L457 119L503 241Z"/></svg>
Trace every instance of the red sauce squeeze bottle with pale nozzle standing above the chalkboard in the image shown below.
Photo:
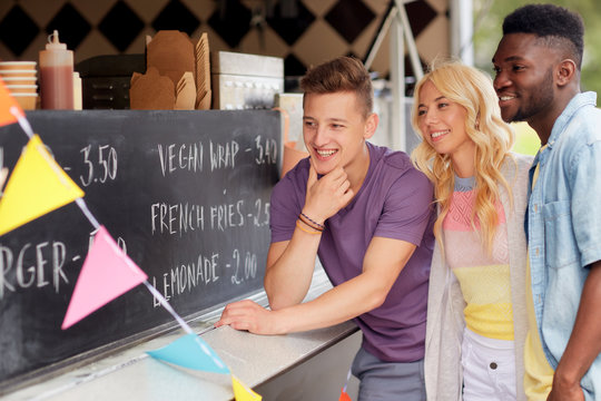
<svg viewBox="0 0 601 401"><path fill-rule="evenodd" d="M57 30L40 51L40 96L42 109L73 109L73 52L59 42Z"/></svg>

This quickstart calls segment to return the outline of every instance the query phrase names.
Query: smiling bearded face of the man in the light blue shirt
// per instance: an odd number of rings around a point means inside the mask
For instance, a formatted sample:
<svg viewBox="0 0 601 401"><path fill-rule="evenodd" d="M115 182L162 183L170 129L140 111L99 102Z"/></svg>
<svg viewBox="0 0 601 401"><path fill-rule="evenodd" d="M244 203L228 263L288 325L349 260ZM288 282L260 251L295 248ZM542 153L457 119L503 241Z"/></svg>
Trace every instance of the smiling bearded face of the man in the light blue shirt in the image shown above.
<svg viewBox="0 0 601 401"><path fill-rule="evenodd" d="M501 116L508 123L533 121L553 116L558 55L533 33L505 35L493 57L494 88Z"/></svg>

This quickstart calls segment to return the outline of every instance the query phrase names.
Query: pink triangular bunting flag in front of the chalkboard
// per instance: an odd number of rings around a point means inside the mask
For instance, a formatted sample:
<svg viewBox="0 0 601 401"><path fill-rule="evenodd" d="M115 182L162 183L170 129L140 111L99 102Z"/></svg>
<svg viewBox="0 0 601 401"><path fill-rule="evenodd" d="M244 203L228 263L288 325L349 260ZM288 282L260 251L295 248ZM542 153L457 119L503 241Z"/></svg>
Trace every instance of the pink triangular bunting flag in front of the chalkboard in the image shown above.
<svg viewBox="0 0 601 401"><path fill-rule="evenodd" d="M105 226L100 226L83 261L61 329L70 327L147 278Z"/></svg>

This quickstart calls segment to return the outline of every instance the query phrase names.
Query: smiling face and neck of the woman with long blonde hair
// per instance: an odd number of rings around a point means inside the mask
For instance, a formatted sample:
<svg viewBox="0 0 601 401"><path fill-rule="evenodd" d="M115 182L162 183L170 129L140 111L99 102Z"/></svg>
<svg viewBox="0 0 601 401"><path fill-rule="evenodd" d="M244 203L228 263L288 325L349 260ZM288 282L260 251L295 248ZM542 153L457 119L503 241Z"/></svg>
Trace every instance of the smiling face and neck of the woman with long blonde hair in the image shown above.
<svg viewBox="0 0 601 401"><path fill-rule="evenodd" d="M424 140L436 153L449 155L460 176L473 175L475 144L465 131L465 108L449 100L431 80L421 87L417 105L417 126Z"/></svg>

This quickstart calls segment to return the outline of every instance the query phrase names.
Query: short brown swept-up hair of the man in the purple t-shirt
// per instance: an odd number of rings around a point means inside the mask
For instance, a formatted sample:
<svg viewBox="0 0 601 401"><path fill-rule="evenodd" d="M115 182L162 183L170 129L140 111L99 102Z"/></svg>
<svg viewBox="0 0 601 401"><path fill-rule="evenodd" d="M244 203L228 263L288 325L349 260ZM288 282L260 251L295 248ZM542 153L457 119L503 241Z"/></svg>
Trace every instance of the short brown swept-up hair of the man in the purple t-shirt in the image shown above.
<svg viewBox="0 0 601 401"><path fill-rule="evenodd" d="M300 79L300 89L305 95L355 92L363 107L364 117L367 117L374 107L370 72L363 62L354 57L338 57L311 68Z"/></svg>

